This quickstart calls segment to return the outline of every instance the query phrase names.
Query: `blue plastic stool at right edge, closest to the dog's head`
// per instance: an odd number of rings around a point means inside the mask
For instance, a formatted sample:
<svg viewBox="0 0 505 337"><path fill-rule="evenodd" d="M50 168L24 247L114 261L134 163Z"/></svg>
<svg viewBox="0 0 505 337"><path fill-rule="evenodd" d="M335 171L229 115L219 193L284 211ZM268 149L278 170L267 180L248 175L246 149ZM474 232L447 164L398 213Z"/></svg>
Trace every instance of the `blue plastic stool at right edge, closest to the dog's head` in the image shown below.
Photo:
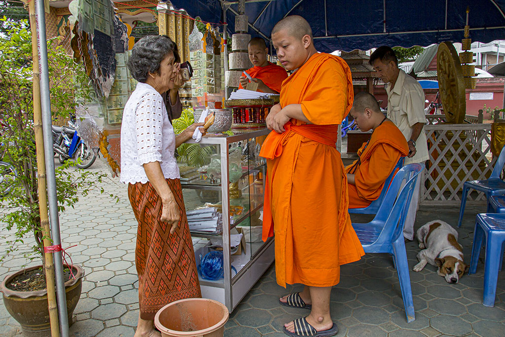
<svg viewBox="0 0 505 337"><path fill-rule="evenodd" d="M503 263L503 244L505 243L505 214L477 214L475 218L472 259L468 274L477 271L483 236L486 235L486 259L484 262L484 296L482 304L494 307L498 270Z"/></svg>

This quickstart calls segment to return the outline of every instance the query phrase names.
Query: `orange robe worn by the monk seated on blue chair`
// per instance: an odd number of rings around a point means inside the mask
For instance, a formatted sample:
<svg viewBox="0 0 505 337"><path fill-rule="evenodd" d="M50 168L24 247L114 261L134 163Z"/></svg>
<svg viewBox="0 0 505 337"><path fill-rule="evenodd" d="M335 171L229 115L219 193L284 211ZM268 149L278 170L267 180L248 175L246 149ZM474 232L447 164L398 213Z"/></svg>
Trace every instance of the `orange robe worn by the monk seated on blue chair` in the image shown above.
<svg viewBox="0 0 505 337"><path fill-rule="evenodd" d="M389 174L400 157L409 154L405 136L391 121L379 125L370 141L363 143L358 156L360 160L345 168L346 173L355 174L355 184L347 184L349 208L363 208L379 198ZM387 187L386 187L387 188Z"/></svg>

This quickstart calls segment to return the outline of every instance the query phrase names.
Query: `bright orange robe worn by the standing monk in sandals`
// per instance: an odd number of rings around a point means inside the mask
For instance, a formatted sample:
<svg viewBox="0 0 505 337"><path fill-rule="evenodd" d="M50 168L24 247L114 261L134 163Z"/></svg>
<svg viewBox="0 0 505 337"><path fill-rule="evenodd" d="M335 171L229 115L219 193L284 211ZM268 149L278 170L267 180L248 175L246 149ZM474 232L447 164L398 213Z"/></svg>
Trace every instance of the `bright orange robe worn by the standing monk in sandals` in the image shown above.
<svg viewBox="0 0 505 337"><path fill-rule="evenodd" d="M339 57L315 54L282 83L280 104L301 104L314 124L296 119L272 131L267 158L263 239L275 231L277 283L332 286L340 265L364 255L347 212L347 178L335 142L354 93Z"/></svg>

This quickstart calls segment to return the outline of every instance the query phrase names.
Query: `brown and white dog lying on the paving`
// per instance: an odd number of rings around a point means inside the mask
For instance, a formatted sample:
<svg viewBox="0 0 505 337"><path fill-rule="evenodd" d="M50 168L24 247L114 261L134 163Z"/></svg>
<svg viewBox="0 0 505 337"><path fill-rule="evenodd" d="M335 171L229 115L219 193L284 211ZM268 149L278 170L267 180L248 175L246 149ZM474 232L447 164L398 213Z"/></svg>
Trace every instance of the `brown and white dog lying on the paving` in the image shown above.
<svg viewBox="0 0 505 337"><path fill-rule="evenodd" d="M458 232L442 220L430 221L417 230L421 252L414 271L423 270L427 263L438 267L437 274L448 283L458 283L468 270L463 262L463 247L458 243Z"/></svg>

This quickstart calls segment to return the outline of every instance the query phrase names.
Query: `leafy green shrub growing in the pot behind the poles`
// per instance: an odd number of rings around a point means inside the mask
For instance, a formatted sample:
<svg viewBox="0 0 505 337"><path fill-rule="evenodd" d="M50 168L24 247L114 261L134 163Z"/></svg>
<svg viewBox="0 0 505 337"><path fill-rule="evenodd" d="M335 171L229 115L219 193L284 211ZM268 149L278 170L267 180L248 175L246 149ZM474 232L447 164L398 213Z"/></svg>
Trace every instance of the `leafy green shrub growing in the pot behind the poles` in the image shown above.
<svg viewBox="0 0 505 337"><path fill-rule="evenodd" d="M3 237L6 256L24 244L24 238L34 238L31 252L25 252L28 257L33 252L42 254L43 239L34 141L31 32L24 20L4 17L0 23L6 32L0 34L0 160L10 163L18 174L9 194L0 197L0 224L10 231ZM48 60L53 117L65 118L73 113L74 97L81 88L87 88L87 79L63 47L50 41ZM79 94L86 95L86 89ZM59 211L73 207L104 177L92 171L68 170L71 163L56 169Z"/></svg>

